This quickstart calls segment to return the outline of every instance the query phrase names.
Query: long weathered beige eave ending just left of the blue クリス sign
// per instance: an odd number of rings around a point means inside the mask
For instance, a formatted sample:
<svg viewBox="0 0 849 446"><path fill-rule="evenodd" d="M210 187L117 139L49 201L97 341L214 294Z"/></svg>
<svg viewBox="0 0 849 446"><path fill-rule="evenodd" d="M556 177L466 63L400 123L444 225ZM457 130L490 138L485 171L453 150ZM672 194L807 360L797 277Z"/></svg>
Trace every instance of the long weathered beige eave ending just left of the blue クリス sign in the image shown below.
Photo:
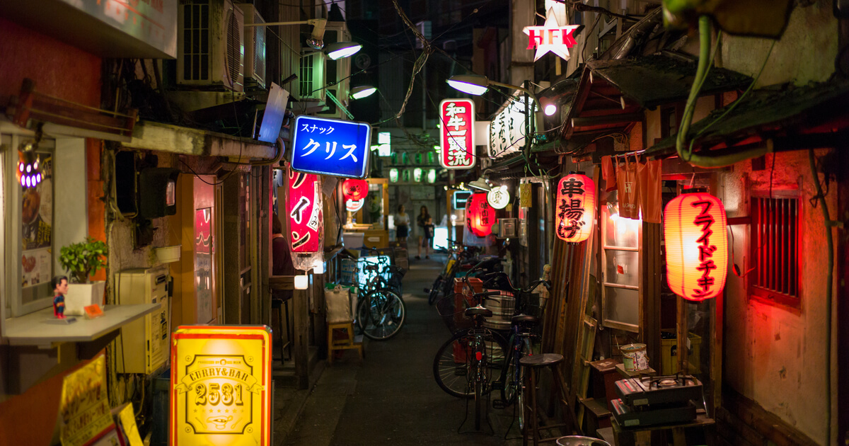
<svg viewBox="0 0 849 446"><path fill-rule="evenodd" d="M123 145L131 149L179 155L228 156L242 160L273 159L277 156L274 144L154 121L138 121L132 131L132 139Z"/></svg>

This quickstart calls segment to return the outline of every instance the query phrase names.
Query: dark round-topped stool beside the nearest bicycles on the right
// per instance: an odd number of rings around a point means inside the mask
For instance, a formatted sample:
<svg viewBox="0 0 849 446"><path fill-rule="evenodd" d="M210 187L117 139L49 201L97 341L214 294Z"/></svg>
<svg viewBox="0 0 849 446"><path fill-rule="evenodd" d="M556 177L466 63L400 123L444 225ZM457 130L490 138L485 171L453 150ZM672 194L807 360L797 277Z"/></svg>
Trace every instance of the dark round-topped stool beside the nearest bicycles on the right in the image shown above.
<svg viewBox="0 0 849 446"><path fill-rule="evenodd" d="M566 397L565 387L563 386L562 377L559 375L559 370L557 367L558 364L563 362L563 355L559 355L556 353L526 355L523 356L519 362L521 366L525 368L525 377L528 381L525 387L526 392L531 392L530 397L525 398L525 401L528 405L523 408L527 410L525 412L525 431L522 432L522 444L526 445L528 443L529 438L533 441L534 446L537 446L537 444L539 443L554 442L558 438L562 437L562 435L558 435L556 437L540 439L540 429L567 427L568 432L571 433L572 427L574 426L574 420L572 421L572 426L567 423L561 423L540 427L539 416L537 414L537 370L543 369L544 367L550 367L553 374L552 383L555 387L557 387L559 401L561 404L563 404L563 415L571 417L571 411L569 408L569 404L567 403L568 398Z"/></svg>

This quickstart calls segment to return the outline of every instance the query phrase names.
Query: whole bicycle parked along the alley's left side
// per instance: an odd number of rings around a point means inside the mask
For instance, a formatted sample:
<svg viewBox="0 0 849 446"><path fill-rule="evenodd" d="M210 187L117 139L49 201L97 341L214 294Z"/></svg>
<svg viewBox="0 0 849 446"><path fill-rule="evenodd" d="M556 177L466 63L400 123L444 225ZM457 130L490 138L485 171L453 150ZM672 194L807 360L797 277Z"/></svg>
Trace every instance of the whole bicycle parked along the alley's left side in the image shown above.
<svg viewBox="0 0 849 446"><path fill-rule="evenodd" d="M371 250L377 251L374 248ZM380 254L380 251L377 252ZM350 255L343 255L357 260ZM400 286L396 285L400 284L404 270L390 265L383 257L378 257L378 263L367 264L364 268L374 274L363 285L363 298L357 303L354 313L357 327L369 339L386 341L400 332L407 319L407 306L399 292ZM385 272L391 274L390 279L385 279Z"/></svg>

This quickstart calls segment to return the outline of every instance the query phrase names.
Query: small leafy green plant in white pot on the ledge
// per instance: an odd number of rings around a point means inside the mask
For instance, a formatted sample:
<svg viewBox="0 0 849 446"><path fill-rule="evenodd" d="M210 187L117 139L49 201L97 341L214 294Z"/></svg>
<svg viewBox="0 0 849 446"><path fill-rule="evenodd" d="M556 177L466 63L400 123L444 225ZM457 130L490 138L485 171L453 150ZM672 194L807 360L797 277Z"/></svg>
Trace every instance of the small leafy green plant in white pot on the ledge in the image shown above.
<svg viewBox="0 0 849 446"><path fill-rule="evenodd" d="M59 264L69 274L68 294L65 295L65 314L82 316L85 307L103 302L106 282L91 282L91 277L106 265L109 247L103 241L87 237L86 241L63 246Z"/></svg>

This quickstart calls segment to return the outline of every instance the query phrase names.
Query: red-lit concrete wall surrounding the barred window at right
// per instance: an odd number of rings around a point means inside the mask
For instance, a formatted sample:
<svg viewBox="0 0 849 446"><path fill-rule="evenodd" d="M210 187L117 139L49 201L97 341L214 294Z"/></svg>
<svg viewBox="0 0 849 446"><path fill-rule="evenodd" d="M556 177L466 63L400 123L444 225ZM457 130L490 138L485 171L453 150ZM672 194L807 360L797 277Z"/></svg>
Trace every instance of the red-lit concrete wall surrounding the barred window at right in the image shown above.
<svg viewBox="0 0 849 446"><path fill-rule="evenodd" d="M816 154L821 156L825 152L818 150ZM824 295L828 284L823 216L822 211L811 206L810 202L816 192L808 167L807 151L785 152L775 156L773 190L801 190L801 255L798 260L801 314L749 300L746 279L737 277L729 269L723 379L745 397L761 404L764 409L778 415L808 437L818 443L827 443L824 438L828 422L824 404L824 370L828 366L825 364L827 337ZM773 155L767 155L765 170L752 172L751 163L742 162L734 165L734 172L719 176L719 196L725 204L728 217L749 215L747 190L769 189L772 164ZM825 199L829 204L829 212L834 216L837 205L834 188ZM745 271L751 268L747 263L749 226L731 228L734 231L734 260ZM836 345L836 339L832 345ZM836 394L836 389L833 394ZM832 402L835 403L834 398ZM836 415L836 410L833 413Z"/></svg>

